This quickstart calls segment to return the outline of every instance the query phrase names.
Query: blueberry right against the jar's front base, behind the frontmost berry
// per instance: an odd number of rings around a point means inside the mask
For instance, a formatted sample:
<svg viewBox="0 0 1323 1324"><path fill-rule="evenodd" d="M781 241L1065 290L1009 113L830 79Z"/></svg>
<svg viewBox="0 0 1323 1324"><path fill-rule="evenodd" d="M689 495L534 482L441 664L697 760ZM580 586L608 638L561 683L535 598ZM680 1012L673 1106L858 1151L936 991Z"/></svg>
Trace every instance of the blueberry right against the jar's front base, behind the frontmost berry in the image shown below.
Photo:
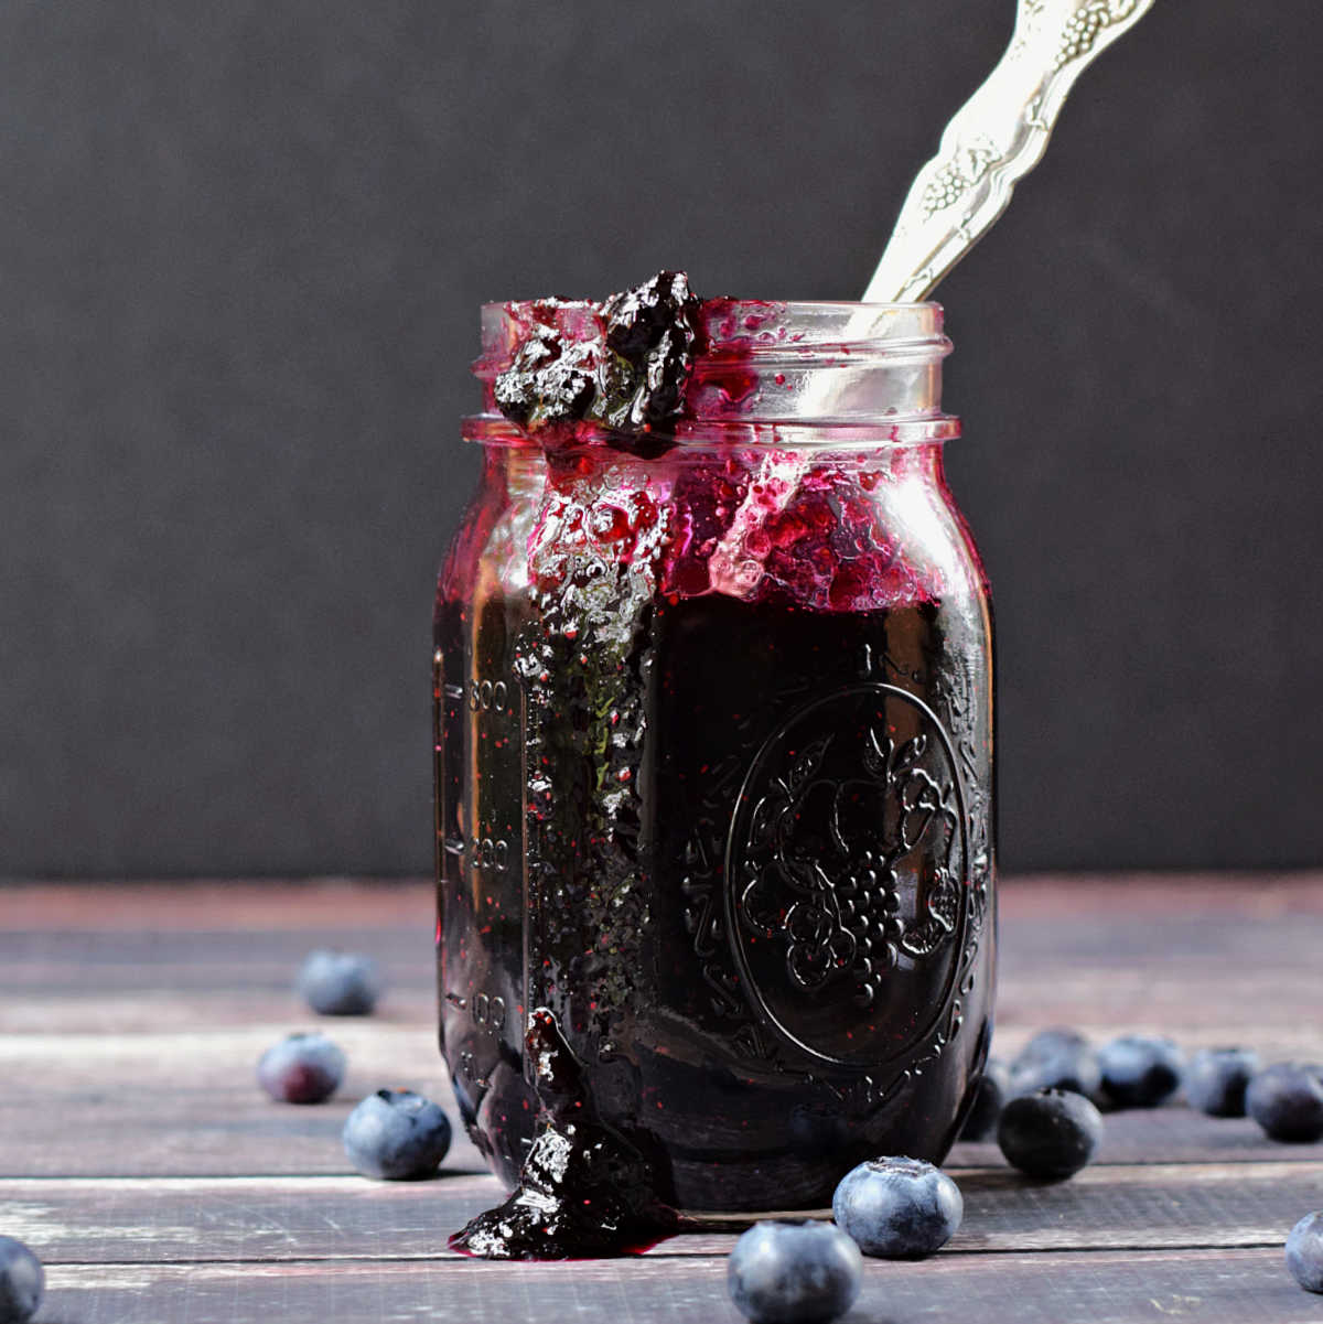
<svg viewBox="0 0 1323 1324"><path fill-rule="evenodd" d="M960 1188L922 1158L870 1158L832 1197L836 1226L879 1259L923 1259L960 1226Z"/></svg>

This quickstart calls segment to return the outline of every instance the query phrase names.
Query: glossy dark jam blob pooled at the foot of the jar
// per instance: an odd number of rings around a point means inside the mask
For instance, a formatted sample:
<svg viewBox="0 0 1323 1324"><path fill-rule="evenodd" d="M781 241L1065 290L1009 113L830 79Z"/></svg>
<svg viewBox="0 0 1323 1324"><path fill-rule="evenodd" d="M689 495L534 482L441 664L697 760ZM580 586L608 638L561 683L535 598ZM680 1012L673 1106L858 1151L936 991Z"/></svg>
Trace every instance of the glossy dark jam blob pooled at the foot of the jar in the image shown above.
<svg viewBox="0 0 1323 1324"><path fill-rule="evenodd" d="M526 1047L542 1113L519 1189L456 1233L450 1249L483 1259L603 1258L673 1231L675 1214L653 1194L649 1164L597 1116L583 1068L546 1008L530 1016Z"/></svg>

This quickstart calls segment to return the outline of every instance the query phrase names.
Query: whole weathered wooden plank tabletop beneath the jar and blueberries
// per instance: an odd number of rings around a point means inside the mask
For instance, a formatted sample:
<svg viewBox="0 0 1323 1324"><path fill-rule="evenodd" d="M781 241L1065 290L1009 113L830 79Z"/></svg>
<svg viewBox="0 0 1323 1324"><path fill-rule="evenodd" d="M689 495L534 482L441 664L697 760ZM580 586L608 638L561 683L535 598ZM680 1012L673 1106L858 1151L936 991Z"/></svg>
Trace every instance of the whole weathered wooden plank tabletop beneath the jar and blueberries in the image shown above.
<svg viewBox="0 0 1323 1324"><path fill-rule="evenodd" d="M1001 940L1000 1055L1066 1023L1323 1058L1323 878L1008 880ZM290 985L319 945L369 952L391 988L379 1014L323 1022L350 1059L334 1100L271 1103L253 1067L317 1019ZM340 1127L372 1090L456 1115L426 884L11 888L0 989L0 1233L46 1266L38 1324L740 1319L732 1235L489 1264L445 1249L498 1196L466 1139L436 1181L348 1168ZM923 1263L866 1262L852 1324L1323 1321L1282 1262L1323 1209L1323 1144L1171 1106L1111 1113L1069 1182L1026 1181L991 1144L957 1145L948 1170L960 1231Z"/></svg>

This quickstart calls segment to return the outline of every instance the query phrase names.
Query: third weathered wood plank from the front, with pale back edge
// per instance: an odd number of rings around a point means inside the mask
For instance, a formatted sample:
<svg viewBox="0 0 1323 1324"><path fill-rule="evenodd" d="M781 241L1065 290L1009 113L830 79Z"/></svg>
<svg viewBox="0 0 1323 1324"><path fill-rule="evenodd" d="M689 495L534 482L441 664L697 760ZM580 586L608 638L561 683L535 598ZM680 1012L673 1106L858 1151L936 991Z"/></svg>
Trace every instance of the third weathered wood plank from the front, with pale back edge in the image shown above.
<svg viewBox="0 0 1323 1324"><path fill-rule="evenodd" d="M324 1022L350 1059L339 1095L315 1107L273 1103L254 1082L257 1058L303 1023L0 1035L0 1176L343 1173L344 1117L381 1087L417 1090L458 1123L429 1023ZM1244 1117L1168 1107L1110 1113L1098 1161L1306 1161L1320 1153L1320 1144L1267 1140ZM951 1161L996 1166L1003 1160L993 1144L959 1144ZM448 1164L482 1168L458 1127Z"/></svg>

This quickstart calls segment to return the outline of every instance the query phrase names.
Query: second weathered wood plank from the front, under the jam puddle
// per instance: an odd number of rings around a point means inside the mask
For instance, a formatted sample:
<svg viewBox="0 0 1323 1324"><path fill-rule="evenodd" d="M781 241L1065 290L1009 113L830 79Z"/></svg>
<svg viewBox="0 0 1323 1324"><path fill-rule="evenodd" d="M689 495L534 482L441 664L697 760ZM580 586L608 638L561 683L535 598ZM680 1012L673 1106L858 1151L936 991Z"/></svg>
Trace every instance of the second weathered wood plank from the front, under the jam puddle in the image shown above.
<svg viewBox="0 0 1323 1324"><path fill-rule="evenodd" d="M964 1196L952 1254L1275 1246L1323 1205L1311 1164L1090 1168L1032 1182L1006 1169L950 1169ZM48 1263L436 1259L446 1235L501 1198L494 1178L184 1177L5 1181L0 1222ZM724 1255L736 1222L649 1254Z"/></svg>

